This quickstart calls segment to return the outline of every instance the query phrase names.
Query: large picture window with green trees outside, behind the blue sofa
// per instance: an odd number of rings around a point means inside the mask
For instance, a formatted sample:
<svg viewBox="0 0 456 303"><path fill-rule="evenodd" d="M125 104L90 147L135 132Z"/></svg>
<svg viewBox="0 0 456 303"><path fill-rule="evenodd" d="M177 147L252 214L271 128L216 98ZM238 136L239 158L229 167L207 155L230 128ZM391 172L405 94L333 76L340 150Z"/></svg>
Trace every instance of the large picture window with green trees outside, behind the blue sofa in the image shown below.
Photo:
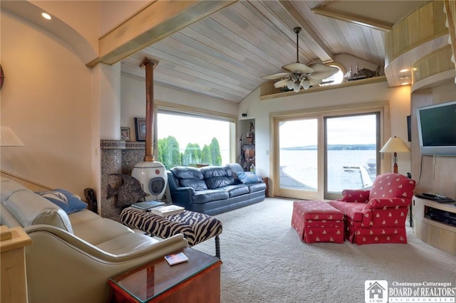
<svg viewBox="0 0 456 303"><path fill-rule="evenodd" d="M231 159L232 124L223 117L159 110L156 160L166 169L227 164Z"/></svg>

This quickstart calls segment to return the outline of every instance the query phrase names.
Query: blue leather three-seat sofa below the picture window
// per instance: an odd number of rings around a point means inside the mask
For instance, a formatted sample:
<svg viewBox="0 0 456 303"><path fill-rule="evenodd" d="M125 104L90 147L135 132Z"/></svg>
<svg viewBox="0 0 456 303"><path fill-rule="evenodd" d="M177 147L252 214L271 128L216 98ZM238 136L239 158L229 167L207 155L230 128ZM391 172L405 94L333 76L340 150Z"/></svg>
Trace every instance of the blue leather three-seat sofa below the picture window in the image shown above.
<svg viewBox="0 0 456 303"><path fill-rule="evenodd" d="M239 164L225 166L175 166L169 171L168 186L172 203L215 215L263 201L266 184Z"/></svg>

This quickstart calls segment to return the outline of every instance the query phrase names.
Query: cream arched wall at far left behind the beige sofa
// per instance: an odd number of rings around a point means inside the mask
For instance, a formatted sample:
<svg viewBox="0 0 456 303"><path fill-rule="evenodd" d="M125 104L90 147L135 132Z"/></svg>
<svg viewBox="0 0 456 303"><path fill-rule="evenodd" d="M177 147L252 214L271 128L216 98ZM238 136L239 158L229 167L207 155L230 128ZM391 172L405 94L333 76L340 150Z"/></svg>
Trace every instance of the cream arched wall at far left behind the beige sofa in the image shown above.
<svg viewBox="0 0 456 303"><path fill-rule="evenodd" d="M1 125L24 147L1 147L1 169L83 195L92 186L91 70L65 43L1 11Z"/></svg>

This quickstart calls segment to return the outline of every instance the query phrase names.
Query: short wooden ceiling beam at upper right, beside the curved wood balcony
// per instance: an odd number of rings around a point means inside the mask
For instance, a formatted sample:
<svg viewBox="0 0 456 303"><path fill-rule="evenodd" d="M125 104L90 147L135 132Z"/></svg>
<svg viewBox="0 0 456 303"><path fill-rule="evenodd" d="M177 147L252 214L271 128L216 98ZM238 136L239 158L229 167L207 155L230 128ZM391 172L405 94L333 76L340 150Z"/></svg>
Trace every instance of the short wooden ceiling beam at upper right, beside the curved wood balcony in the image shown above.
<svg viewBox="0 0 456 303"><path fill-rule="evenodd" d="M315 9L312 9L312 11L314 11L315 14L321 16L326 16L341 21L355 23L361 26L376 29L378 31L391 31L394 25L392 23L375 20L373 18L366 18L356 14L342 13L341 11L328 9L327 7L323 6L316 7Z"/></svg>

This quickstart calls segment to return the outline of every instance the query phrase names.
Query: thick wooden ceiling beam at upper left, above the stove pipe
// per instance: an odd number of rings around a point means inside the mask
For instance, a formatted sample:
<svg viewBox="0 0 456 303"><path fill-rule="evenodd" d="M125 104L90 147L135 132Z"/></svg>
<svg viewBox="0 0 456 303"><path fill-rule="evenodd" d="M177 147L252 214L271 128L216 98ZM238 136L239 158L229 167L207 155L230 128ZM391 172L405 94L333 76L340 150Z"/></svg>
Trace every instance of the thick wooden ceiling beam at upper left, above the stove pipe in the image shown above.
<svg viewBox="0 0 456 303"><path fill-rule="evenodd" d="M88 63L113 64L237 0L153 1L99 39L100 57Z"/></svg>

